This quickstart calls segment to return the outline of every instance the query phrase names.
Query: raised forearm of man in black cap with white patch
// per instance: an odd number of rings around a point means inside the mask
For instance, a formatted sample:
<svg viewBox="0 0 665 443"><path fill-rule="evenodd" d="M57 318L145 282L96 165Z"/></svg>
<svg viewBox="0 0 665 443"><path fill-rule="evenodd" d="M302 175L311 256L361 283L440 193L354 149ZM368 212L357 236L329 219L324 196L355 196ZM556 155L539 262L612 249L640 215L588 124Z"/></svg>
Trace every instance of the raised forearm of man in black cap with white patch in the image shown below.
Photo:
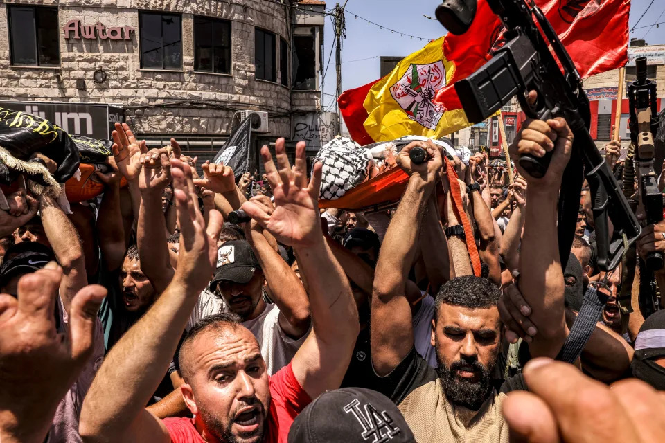
<svg viewBox="0 0 665 443"><path fill-rule="evenodd" d="M267 214L274 210L265 195L251 198ZM292 338L300 338L310 328L310 302L298 275L264 236L263 227L256 221L244 224L245 237L254 250L270 288L272 301L279 308L279 326Z"/></svg>

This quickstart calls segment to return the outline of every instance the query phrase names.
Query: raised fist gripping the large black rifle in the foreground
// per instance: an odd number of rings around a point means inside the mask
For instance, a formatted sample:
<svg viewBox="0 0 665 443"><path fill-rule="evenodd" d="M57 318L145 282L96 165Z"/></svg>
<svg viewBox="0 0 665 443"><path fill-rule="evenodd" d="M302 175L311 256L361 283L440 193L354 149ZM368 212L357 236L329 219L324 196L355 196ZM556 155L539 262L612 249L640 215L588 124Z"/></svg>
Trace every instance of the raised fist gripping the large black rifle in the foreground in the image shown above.
<svg viewBox="0 0 665 443"><path fill-rule="evenodd" d="M566 120L561 117L547 120L547 122L542 120L526 120L524 122L522 130L517 134L513 145L511 145L510 153L513 159L519 159L520 156L525 154L542 158L547 152L553 150L547 173L540 179L531 177L520 166L520 162L515 162L517 170L529 183L531 189L556 190L558 192L563 170L565 170L570 159L573 138L573 133Z"/></svg>

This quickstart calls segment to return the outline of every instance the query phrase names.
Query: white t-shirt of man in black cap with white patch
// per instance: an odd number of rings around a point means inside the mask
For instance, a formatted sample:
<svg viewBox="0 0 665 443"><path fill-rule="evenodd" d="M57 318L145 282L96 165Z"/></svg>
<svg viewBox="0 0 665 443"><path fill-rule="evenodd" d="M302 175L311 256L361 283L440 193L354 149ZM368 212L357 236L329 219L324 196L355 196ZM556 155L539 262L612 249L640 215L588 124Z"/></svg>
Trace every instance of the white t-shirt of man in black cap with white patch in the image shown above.
<svg viewBox="0 0 665 443"><path fill-rule="evenodd" d="M192 311L187 329L189 330L202 318L224 312L229 312L224 300L209 291L203 291L199 294L199 301ZM278 318L279 309L277 305L267 303L260 316L254 318L254 320L242 322L242 325L256 337L269 375L290 363L309 334L308 332L297 340L290 338L282 330Z"/></svg>

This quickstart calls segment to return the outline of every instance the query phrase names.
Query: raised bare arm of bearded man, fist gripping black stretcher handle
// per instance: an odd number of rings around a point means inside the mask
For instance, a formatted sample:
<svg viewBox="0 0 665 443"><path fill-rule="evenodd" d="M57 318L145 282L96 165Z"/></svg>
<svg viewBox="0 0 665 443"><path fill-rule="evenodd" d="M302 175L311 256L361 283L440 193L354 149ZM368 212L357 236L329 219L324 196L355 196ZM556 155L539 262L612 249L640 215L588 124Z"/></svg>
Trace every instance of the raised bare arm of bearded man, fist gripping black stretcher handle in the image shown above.
<svg viewBox="0 0 665 443"><path fill-rule="evenodd" d="M423 147L429 161L414 165L409 152ZM391 220L376 265L371 308L372 363L379 375L387 375L411 352L414 331L411 307L405 297L409 270L418 246L418 232L429 197L434 192L441 168L441 152L432 142L411 143L397 157L398 164L409 174L407 190Z"/></svg>

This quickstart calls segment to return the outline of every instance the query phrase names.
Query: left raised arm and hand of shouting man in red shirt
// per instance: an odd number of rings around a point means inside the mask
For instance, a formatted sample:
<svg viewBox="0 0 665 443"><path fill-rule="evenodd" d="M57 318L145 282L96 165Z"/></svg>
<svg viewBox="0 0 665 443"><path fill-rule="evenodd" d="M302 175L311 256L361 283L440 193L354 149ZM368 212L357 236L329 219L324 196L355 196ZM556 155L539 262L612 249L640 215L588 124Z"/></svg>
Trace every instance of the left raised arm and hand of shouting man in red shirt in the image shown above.
<svg viewBox="0 0 665 443"><path fill-rule="evenodd" d="M200 291L212 276L222 217L211 213L206 230L191 170L172 159L181 228L180 262L166 291L127 331L97 372L81 410L85 442L170 442L161 420L143 406L166 372ZM131 356L131 358L127 358Z"/></svg>

